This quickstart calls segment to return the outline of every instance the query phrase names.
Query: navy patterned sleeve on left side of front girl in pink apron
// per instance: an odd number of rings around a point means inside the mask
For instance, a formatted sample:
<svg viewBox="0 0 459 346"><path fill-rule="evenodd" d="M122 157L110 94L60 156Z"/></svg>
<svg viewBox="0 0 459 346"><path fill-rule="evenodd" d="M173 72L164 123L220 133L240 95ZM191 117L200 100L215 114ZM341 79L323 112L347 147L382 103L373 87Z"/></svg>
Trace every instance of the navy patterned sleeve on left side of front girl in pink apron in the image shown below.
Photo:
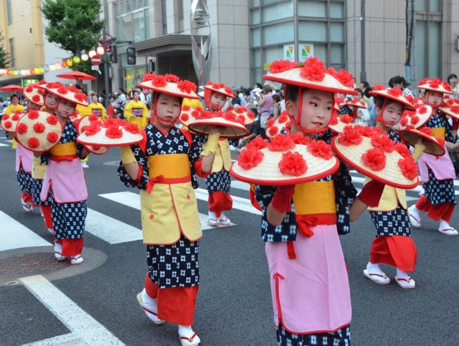
<svg viewBox="0 0 459 346"><path fill-rule="evenodd" d="M287 242L296 239L296 217L295 207L292 203L292 211L285 214L282 223L279 226L273 226L269 223L266 215L273 195L276 192L276 186L255 185L255 199L262 208L261 212L261 239L264 242Z"/></svg>

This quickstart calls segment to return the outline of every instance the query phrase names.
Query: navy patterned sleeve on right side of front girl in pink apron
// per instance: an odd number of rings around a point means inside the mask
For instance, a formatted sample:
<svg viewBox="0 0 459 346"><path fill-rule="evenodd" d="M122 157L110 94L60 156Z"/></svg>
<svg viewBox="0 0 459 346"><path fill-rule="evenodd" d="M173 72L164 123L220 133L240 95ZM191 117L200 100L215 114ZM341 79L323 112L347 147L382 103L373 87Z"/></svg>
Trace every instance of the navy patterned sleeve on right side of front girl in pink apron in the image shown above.
<svg viewBox="0 0 459 346"><path fill-rule="evenodd" d="M340 168L334 179L335 186L335 203L336 203L336 227L338 234L348 234L350 232L349 224L349 206L353 204L357 195L348 166L340 160Z"/></svg>

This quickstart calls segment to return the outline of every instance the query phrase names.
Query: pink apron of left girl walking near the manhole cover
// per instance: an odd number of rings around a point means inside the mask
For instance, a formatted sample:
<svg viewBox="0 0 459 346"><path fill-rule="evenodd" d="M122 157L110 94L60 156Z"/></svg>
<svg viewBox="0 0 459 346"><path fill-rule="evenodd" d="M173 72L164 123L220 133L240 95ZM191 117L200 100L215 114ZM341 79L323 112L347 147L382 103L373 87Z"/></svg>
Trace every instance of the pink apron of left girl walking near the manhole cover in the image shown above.
<svg viewBox="0 0 459 346"><path fill-rule="evenodd" d="M54 200L57 203L80 202L88 198L88 190L84 180L83 168L80 159L61 162L48 160L48 166L43 178L40 199L48 199L49 189L53 190Z"/></svg>

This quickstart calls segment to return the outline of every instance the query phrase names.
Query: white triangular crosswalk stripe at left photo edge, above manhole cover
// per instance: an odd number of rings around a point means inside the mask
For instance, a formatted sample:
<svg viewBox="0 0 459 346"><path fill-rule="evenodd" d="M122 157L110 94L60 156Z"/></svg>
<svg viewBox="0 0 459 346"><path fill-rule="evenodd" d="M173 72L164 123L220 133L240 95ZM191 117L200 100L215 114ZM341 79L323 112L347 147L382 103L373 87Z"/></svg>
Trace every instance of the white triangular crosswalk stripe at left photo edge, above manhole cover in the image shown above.
<svg viewBox="0 0 459 346"><path fill-rule="evenodd" d="M50 242L0 210L0 251L20 247L51 246Z"/></svg>

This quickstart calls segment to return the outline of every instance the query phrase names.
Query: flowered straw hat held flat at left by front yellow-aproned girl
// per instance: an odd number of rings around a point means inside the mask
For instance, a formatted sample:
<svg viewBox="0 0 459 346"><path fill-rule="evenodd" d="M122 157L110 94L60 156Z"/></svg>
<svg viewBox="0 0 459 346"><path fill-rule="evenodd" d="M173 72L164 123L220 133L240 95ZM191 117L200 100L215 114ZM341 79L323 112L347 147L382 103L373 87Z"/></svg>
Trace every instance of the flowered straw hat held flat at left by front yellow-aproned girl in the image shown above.
<svg viewBox="0 0 459 346"><path fill-rule="evenodd" d="M137 124L124 119L108 118L102 124L91 122L84 129L81 127L81 130L83 132L76 140L84 145L123 146L137 144L143 139Z"/></svg>

